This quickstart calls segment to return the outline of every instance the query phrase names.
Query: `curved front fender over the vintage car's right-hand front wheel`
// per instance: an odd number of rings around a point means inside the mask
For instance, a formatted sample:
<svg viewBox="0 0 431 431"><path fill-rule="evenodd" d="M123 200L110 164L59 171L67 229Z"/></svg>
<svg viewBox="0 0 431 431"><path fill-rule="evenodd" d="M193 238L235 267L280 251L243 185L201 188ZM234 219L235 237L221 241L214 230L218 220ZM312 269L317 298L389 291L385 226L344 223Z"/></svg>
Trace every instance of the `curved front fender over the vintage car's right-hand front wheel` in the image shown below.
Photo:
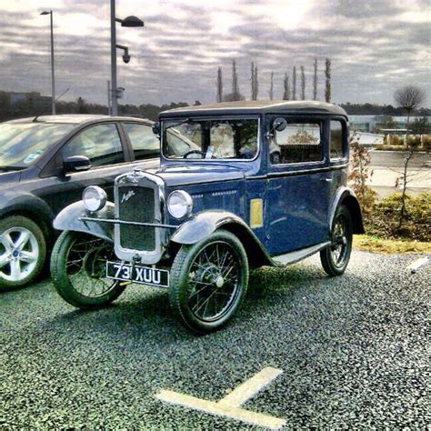
<svg viewBox="0 0 431 431"><path fill-rule="evenodd" d="M265 246L250 226L241 217L228 211L198 213L181 225L170 239L177 244L192 245L204 240L221 227L235 234L242 242L251 266L274 265Z"/></svg>

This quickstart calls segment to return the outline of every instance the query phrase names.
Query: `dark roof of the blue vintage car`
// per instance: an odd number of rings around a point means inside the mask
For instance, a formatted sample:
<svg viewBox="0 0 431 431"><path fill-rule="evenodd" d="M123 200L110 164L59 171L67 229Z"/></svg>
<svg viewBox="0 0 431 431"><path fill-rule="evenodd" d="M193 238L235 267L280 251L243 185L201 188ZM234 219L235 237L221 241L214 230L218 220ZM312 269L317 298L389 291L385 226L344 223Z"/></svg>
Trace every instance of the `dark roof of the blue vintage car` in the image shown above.
<svg viewBox="0 0 431 431"><path fill-rule="evenodd" d="M160 113L160 117L202 116L202 115L245 115L245 114L332 114L347 117L346 111L334 104L316 100L244 100L222 102L211 105L185 106L169 109Z"/></svg>

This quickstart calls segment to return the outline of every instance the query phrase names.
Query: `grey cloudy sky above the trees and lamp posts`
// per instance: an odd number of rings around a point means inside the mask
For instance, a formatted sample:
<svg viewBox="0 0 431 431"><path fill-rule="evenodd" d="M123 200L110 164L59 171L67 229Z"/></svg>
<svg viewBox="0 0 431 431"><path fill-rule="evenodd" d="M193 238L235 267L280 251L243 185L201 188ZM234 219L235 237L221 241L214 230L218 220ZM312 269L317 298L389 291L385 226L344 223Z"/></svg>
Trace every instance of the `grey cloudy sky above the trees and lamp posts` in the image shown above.
<svg viewBox="0 0 431 431"><path fill-rule="evenodd" d="M109 0L2 0L0 90L50 95L49 15L54 10L56 93L106 103L110 78ZM314 58L318 98L324 98L324 62L333 64L336 103L393 104L402 85L419 85L431 105L429 0L116 0L117 17L137 15L144 28L117 25L118 85L126 103L203 103L216 99L216 70L226 93L236 59L241 92L250 96L250 62L259 68L259 98L275 95L283 75L306 67L311 98Z"/></svg>

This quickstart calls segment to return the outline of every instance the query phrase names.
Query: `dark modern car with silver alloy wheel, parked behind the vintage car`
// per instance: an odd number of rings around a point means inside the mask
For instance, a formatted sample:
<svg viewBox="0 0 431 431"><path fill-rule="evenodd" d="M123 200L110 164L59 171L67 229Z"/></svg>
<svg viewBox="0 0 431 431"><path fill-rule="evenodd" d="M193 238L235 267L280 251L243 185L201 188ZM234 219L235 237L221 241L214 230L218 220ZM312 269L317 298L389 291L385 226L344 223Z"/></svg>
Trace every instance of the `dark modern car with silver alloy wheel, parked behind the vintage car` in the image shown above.
<svg viewBox="0 0 431 431"><path fill-rule="evenodd" d="M85 186L103 186L112 199L117 175L159 165L152 125L106 115L0 124L0 290L24 286L40 273L55 241L55 215Z"/></svg>

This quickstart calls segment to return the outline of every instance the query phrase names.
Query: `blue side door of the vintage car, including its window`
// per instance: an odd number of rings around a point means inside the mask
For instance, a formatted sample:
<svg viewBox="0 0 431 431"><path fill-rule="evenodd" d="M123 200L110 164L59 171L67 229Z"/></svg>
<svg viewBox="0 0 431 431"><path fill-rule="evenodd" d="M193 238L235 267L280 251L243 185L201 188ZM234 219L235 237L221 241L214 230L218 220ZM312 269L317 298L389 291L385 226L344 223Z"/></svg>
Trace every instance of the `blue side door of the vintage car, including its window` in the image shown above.
<svg viewBox="0 0 431 431"><path fill-rule="evenodd" d="M286 128L268 142L266 247L272 255L316 245L328 236L327 121L283 117Z"/></svg>

